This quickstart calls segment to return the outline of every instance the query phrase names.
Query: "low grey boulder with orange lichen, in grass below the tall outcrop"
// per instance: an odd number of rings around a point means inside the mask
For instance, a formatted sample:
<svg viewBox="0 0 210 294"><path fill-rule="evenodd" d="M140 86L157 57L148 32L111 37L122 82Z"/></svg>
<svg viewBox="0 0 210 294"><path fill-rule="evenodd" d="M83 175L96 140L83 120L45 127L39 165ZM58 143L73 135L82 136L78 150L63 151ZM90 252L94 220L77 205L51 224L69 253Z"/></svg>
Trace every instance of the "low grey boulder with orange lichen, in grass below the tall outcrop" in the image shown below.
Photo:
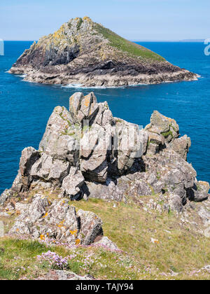
<svg viewBox="0 0 210 294"><path fill-rule="evenodd" d="M47 198L35 195L31 204L22 207L10 234L86 246L103 235L103 230L102 220L96 214L81 209L76 213L66 199L51 204Z"/></svg>

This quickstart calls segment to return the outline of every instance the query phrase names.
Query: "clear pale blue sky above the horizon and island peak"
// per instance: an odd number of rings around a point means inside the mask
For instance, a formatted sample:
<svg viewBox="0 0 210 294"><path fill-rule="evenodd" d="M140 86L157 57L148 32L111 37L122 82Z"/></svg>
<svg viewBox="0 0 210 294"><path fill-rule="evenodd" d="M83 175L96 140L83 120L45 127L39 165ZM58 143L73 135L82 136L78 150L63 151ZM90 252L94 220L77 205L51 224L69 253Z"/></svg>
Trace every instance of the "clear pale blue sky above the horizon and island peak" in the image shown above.
<svg viewBox="0 0 210 294"><path fill-rule="evenodd" d="M89 16L132 41L210 38L209 0L0 0L0 39L38 40Z"/></svg>

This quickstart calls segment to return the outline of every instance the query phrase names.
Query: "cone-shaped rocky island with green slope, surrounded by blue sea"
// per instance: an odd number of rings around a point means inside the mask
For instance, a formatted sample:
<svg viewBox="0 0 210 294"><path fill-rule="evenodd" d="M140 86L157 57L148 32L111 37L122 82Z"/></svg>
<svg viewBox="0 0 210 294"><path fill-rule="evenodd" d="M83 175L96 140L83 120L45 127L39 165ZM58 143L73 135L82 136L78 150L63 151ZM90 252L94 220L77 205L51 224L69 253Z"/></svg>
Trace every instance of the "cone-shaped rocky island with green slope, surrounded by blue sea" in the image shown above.
<svg viewBox="0 0 210 294"><path fill-rule="evenodd" d="M90 18L75 18L25 50L10 73L50 84L122 86L196 80L141 45L121 38Z"/></svg>

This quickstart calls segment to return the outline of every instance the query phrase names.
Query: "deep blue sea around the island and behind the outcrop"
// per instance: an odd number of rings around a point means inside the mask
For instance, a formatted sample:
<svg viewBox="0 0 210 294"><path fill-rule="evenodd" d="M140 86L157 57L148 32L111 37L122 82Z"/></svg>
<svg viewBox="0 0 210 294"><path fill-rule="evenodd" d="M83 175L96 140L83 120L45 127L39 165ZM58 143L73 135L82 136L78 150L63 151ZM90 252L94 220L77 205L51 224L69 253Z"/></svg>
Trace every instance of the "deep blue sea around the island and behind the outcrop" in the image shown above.
<svg viewBox="0 0 210 294"><path fill-rule="evenodd" d="M87 89L27 83L7 73L29 41L6 41L0 56L0 193L10 188L18 172L21 151L38 148L45 125L55 106L69 105L73 92ZM94 89L99 102L107 101L113 116L138 125L147 125L154 110L174 118L181 135L188 134L192 147L188 162L197 170L197 179L210 182L210 56L203 43L140 42L169 62L201 78L193 82L139 85L138 87Z"/></svg>

